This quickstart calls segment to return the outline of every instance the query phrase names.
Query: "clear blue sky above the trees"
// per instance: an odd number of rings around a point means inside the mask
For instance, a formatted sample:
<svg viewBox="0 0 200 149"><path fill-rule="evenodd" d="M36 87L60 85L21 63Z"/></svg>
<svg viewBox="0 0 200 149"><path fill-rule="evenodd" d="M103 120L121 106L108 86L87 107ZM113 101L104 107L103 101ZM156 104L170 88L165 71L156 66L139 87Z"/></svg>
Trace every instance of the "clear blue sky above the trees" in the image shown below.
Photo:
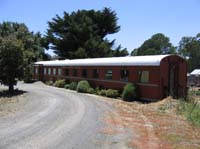
<svg viewBox="0 0 200 149"><path fill-rule="evenodd" d="M47 22L57 14L104 7L117 13L121 26L107 38L129 52L156 33L165 34L174 46L183 36L200 33L200 0L0 0L0 23L25 23L30 31L45 35Z"/></svg>

